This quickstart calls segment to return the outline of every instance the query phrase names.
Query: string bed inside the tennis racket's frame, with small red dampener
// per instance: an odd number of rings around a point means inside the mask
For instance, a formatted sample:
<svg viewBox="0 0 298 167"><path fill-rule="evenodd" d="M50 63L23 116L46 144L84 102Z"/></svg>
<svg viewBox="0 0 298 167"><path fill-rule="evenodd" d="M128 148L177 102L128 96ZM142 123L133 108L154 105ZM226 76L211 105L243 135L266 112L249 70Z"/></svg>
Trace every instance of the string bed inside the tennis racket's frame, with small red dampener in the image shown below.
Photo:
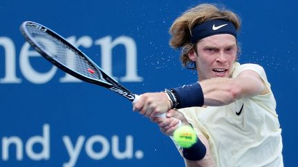
<svg viewBox="0 0 298 167"><path fill-rule="evenodd" d="M30 36L39 44L39 47L52 59L61 63L61 65L83 76L103 80L101 71L92 65L80 52L77 52L65 43L59 41L59 39L36 27L28 26L27 30Z"/></svg>

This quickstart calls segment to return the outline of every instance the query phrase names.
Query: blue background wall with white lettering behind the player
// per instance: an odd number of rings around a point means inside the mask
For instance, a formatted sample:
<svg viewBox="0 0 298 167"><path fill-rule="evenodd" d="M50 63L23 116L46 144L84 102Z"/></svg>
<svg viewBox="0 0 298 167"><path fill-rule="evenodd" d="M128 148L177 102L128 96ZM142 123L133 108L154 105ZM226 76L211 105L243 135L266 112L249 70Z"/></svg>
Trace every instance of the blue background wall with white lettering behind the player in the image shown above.
<svg viewBox="0 0 298 167"><path fill-rule="evenodd" d="M239 61L266 69L283 129L284 164L297 166L297 1L204 2L223 3L241 16ZM161 91L197 80L193 71L181 67L179 52L168 47L168 27L198 3L2 0L0 166L183 166L168 137L133 113L128 100L85 82L62 82L66 74L59 70L43 83L34 82L39 78L30 71L46 74L52 65L39 56L23 57L26 45L19 25L36 21L66 38L81 39L89 45L80 48L99 65L99 41L128 37L135 42L142 80L121 83L135 93ZM121 79L127 73L126 47L115 46L110 56L111 74ZM70 157L71 148L77 148L77 157Z"/></svg>

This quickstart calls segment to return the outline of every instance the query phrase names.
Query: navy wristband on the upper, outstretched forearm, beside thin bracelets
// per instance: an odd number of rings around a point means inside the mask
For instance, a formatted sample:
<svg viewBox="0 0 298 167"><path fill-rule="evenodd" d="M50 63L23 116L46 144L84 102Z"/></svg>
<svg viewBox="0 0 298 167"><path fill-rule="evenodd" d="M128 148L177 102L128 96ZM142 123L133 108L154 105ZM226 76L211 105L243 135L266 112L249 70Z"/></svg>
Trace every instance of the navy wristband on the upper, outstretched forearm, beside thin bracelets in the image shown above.
<svg viewBox="0 0 298 167"><path fill-rule="evenodd" d="M171 89L177 99L176 109L186 107L202 107L204 104L203 91L199 82Z"/></svg>

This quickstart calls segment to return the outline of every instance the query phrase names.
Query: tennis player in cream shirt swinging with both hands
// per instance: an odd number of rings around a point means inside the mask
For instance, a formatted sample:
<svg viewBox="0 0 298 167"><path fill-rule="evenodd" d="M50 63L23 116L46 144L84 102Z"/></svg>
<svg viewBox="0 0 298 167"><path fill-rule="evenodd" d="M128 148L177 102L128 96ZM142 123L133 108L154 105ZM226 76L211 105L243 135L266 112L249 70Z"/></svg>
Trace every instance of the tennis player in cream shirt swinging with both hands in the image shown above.
<svg viewBox="0 0 298 167"><path fill-rule="evenodd" d="M178 120L192 126L199 140L179 152L186 166L284 166L276 102L264 68L239 64L237 14L200 4L170 28L170 45L181 61L197 70L199 81L164 92L143 93L134 111L172 135ZM167 118L155 118L166 113Z"/></svg>

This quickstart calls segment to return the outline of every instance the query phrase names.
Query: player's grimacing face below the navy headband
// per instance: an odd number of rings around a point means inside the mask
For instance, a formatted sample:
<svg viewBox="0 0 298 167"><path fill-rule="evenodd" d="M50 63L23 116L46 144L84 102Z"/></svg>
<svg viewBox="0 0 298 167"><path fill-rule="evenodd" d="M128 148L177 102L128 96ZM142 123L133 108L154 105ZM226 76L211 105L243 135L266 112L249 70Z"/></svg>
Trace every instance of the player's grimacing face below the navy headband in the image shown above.
<svg viewBox="0 0 298 167"><path fill-rule="evenodd" d="M199 80L229 77L236 56L236 38L230 34L203 38L197 43L197 52L188 54L197 65Z"/></svg>

